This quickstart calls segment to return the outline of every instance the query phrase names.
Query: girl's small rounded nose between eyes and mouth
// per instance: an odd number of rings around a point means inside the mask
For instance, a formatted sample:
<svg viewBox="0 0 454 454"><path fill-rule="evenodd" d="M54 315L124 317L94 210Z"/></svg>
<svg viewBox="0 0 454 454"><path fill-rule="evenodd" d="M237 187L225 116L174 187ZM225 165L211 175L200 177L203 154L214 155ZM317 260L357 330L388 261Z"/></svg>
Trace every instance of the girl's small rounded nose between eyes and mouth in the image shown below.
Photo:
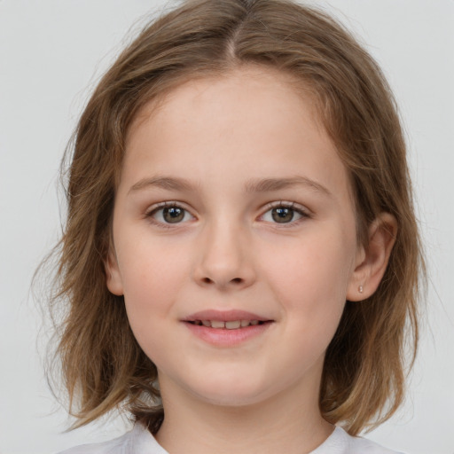
<svg viewBox="0 0 454 454"><path fill-rule="evenodd" d="M228 291L255 281L250 240L238 225L219 220L206 226L198 244L194 279L200 286Z"/></svg>

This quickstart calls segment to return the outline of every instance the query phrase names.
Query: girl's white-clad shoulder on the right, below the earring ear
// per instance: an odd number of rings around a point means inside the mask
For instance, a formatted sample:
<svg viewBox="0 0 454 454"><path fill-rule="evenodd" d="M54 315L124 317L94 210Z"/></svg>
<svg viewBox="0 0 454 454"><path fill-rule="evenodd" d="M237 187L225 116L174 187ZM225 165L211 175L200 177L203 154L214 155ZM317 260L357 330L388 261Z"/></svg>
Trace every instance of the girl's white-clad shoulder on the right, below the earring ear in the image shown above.
<svg viewBox="0 0 454 454"><path fill-rule="evenodd" d="M375 442L362 437L349 435L341 427L336 427L333 434L310 454L403 454L388 450Z"/></svg>

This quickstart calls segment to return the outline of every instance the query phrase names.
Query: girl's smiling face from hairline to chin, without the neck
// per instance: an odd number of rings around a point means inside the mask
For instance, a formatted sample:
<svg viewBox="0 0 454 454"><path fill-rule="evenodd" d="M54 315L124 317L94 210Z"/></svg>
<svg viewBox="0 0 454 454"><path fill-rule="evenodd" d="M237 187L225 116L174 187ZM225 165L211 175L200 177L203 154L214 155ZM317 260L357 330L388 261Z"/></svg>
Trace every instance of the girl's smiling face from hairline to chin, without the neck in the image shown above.
<svg viewBox="0 0 454 454"><path fill-rule="evenodd" d="M248 68L188 82L130 130L108 286L163 395L317 403L363 249L347 171L285 80ZM211 320L231 323L198 325Z"/></svg>

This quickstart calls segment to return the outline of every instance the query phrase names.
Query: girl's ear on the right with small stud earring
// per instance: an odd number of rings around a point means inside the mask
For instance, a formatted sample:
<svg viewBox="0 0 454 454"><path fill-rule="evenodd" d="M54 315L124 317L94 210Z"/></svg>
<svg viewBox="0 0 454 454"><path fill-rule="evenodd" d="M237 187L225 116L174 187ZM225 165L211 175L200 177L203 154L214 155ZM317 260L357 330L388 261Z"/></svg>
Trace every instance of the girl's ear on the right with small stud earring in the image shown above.
<svg viewBox="0 0 454 454"><path fill-rule="evenodd" d="M397 221L389 213L381 213L370 225L367 245L359 245L356 252L356 267L348 283L348 301L363 301L377 290L387 270L396 234Z"/></svg>

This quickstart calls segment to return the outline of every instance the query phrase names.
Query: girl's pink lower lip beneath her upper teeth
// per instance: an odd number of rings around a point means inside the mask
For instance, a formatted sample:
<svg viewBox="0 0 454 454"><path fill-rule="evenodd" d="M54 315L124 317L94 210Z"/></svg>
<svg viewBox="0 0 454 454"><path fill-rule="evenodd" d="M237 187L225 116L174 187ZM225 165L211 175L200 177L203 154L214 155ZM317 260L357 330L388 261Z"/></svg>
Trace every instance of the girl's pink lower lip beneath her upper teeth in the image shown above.
<svg viewBox="0 0 454 454"><path fill-rule="evenodd" d="M235 347L265 333L272 325L272 322L262 325L249 325L235 330L210 328L204 325L193 325L188 322L184 322L184 325L188 327L192 334L211 345L216 347Z"/></svg>

